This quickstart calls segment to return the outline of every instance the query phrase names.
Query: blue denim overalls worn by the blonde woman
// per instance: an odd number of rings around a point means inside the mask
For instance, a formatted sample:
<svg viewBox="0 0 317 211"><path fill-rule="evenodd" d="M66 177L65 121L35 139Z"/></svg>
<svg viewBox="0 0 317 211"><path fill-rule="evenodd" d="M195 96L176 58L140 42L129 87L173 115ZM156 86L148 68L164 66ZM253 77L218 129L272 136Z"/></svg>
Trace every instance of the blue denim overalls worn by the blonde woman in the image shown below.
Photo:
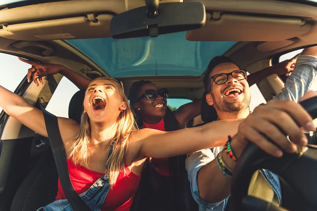
<svg viewBox="0 0 317 211"><path fill-rule="evenodd" d="M113 151L114 142L115 141L112 141L110 144L107 160ZM79 196L92 211L101 211L100 207L105 202L109 189L109 175L105 174L104 176L100 177L86 192L81 193ZM67 199L61 199L52 202L45 207L41 207L37 209L37 211L73 211L73 208L70 206Z"/></svg>

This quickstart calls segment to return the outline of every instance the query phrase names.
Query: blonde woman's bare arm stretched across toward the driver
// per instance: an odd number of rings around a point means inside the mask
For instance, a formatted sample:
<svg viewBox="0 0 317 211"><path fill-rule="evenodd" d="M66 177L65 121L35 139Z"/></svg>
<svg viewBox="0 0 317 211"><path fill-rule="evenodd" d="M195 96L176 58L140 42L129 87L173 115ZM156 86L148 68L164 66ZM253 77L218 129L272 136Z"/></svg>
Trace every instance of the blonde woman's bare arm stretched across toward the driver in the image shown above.
<svg viewBox="0 0 317 211"><path fill-rule="evenodd" d="M172 132L141 129L134 134L142 157L168 158L204 148L223 146L228 135L235 135L243 119L210 122L200 127Z"/></svg>

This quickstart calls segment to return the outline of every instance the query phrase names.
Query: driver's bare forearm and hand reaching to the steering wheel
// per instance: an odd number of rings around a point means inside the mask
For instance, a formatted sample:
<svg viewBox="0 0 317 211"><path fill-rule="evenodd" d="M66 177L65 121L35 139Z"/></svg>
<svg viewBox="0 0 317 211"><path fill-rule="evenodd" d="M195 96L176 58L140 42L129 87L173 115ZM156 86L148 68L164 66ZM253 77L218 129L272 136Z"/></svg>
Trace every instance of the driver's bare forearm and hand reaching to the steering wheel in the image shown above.
<svg viewBox="0 0 317 211"><path fill-rule="evenodd" d="M293 114L288 116L291 113ZM294 121L294 119L296 120ZM266 105L258 106L252 114L240 123L238 133L230 142L234 156L239 159L244 147L247 146L249 141L254 142L257 146L262 148L263 151L275 157L281 157L283 155L279 147L281 147L283 151L293 153L297 150L297 146L306 146L307 137L303 135L296 121L300 121L301 123L298 124L300 127L304 127L305 130L315 131L311 116L295 102L270 101ZM281 132L281 130L283 132ZM285 134L289 135L289 139ZM272 142L266 137L272 140ZM234 170L236 162L231 159L227 153L223 151L220 153L222 153L223 162L231 170ZM191 155L189 158L191 158ZM208 164L202 164L204 166L200 169L199 162L196 162L196 164L192 162L193 167L187 169L191 186L195 185L195 180L197 179L196 198L199 197L200 200L206 204L216 204L230 195L231 178L223 175L222 170L217 164L217 160L214 158L210 160L209 163L208 161L205 162ZM186 166L188 165L189 164L186 164ZM196 173L194 174L194 172ZM199 203L199 200L196 199L196 201Z"/></svg>

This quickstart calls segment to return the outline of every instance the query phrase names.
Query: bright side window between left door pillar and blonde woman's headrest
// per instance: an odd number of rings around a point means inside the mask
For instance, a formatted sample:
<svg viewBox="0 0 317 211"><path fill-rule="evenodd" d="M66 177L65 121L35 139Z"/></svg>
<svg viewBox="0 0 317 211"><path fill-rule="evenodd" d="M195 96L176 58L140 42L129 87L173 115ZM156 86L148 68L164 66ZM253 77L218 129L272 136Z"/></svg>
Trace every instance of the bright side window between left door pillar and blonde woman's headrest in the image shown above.
<svg viewBox="0 0 317 211"><path fill-rule="evenodd" d="M68 118L70 99L79 89L66 77L63 77L56 87L46 110L55 116Z"/></svg>

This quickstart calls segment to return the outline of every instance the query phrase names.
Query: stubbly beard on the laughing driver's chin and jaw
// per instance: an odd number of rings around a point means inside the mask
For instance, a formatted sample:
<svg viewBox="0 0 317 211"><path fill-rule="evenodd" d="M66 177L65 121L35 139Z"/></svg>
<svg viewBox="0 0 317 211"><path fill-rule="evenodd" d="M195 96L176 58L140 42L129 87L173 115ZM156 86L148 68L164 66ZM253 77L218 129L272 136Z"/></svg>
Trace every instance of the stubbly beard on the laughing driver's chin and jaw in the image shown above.
<svg viewBox="0 0 317 211"><path fill-rule="evenodd" d="M228 112L228 113L235 113L239 111L243 111L247 109L251 102L251 96L247 96L245 93L245 89L241 94L244 94L244 98L242 102L226 102L224 100L223 93L220 93L218 100L215 100L213 93L210 93L211 97L214 101L215 106L219 111Z"/></svg>

